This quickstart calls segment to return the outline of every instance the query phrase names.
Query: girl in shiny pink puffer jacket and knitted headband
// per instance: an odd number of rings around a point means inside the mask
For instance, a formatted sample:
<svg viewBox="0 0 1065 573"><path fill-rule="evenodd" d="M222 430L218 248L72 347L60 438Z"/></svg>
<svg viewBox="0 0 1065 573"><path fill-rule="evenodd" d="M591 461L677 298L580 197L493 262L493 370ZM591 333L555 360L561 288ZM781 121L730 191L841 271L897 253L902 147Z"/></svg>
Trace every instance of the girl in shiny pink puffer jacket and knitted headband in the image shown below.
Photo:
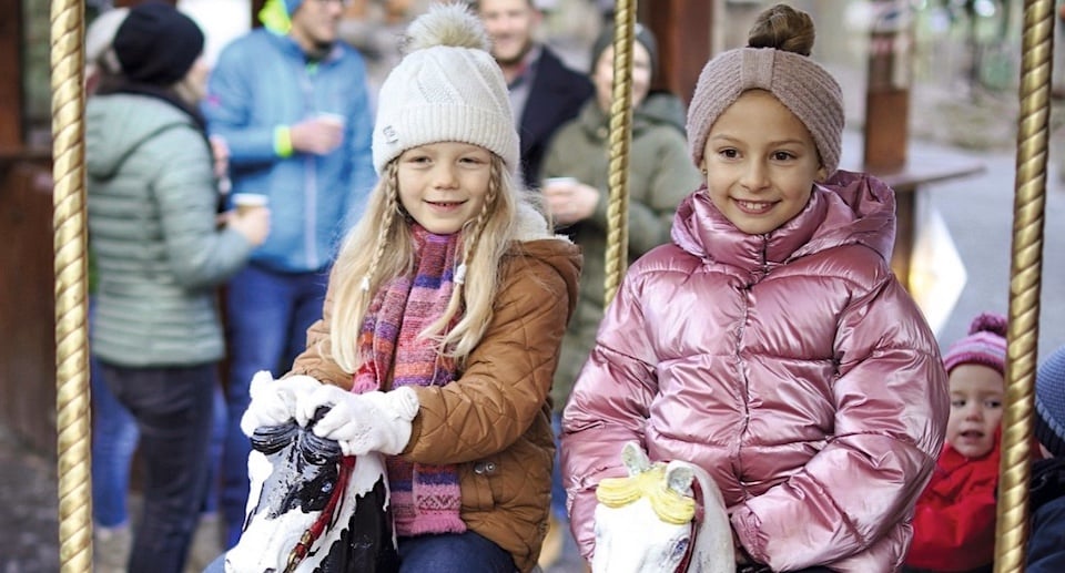
<svg viewBox="0 0 1065 573"><path fill-rule="evenodd" d="M596 488L626 474L635 440L710 474L740 564L903 563L943 444L946 374L889 264L892 190L836 171L842 93L812 43L809 16L781 4L703 68L687 131L706 184L672 244L629 269L564 413L586 557Z"/></svg>

